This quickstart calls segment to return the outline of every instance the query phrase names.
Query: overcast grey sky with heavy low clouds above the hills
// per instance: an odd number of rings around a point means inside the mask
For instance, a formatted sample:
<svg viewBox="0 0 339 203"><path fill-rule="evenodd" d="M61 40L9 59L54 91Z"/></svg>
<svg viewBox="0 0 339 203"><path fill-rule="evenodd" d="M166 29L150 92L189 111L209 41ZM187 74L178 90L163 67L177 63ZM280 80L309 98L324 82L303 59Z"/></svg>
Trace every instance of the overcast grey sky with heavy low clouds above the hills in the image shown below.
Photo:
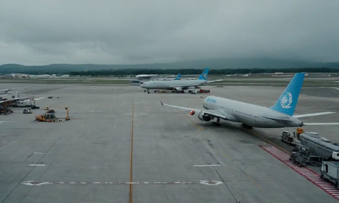
<svg viewBox="0 0 339 203"><path fill-rule="evenodd" d="M1 0L0 64L339 61L338 0Z"/></svg>

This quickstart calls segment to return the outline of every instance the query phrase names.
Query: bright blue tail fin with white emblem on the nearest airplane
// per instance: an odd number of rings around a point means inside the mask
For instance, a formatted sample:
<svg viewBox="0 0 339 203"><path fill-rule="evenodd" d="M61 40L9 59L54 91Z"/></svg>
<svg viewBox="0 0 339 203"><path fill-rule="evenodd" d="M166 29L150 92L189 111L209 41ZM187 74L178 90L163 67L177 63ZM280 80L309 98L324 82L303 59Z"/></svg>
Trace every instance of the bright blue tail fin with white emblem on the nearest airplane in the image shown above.
<svg viewBox="0 0 339 203"><path fill-rule="evenodd" d="M297 106L299 93L304 82L305 73L296 73L277 102L270 109L292 116Z"/></svg>

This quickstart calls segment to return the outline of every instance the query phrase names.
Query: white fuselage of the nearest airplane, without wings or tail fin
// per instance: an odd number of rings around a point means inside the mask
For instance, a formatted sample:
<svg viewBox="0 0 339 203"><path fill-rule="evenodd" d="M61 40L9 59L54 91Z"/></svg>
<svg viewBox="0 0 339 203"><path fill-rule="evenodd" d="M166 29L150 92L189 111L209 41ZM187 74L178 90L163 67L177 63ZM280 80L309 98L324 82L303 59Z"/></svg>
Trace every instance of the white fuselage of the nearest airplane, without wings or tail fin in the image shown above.
<svg viewBox="0 0 339 203"><path fill-rule="evenodd" d="M202 106L206 110L220 111L226 115L226 120L244 123L255 128L285 128L302 125L302 122L293 116L266 107L221 97L208 96L203 101ZM283 120L270 118L281 118Z"/></svg>

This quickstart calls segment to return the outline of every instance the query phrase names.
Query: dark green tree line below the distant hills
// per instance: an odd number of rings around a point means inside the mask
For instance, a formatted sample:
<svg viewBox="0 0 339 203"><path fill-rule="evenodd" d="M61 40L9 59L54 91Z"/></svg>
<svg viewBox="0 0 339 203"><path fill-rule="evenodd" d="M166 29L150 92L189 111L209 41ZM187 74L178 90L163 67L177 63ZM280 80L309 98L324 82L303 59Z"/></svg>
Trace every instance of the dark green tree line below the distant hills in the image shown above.
<svg viewBox="0 0 339 203"><path fill-rule="evenodd" d="M183 74L183 75L193 75L201 74L203 69L118 69L118 70L89 70L89 71L71 71L67 74L69 75L84 75L84 76L107 76L107 75L139 75L139 74ZM296 73L296 72L306 72L306 73L333 73L339 72L339 68L288 68L288 69L222 69L216 70L211 69L208 74L216 75L231 75L231 74L247 74L247 73L275 73L275 72L284 72L284 73Z"/></svg>

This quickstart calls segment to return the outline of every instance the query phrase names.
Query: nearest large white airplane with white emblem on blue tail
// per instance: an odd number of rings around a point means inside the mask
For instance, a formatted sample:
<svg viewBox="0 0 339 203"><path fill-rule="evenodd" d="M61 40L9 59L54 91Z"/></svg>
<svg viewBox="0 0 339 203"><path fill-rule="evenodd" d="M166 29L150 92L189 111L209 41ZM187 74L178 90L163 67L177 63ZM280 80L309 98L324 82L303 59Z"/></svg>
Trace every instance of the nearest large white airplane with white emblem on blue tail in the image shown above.
<svg viewBox="0 0 339 203"><path fill-rule="evenodd" d="M305 73L296 73L275 105L270 108L216 96L207 96L204 99L202 106L206 110L163 104L161 100L160 102L163 106L192 110L190 113L191 115L194 115L195 112L199 112L198 118L202 121L210 121L217 118L217 121L213 122L214 126L220 126L220 118L232 122L240 122L248 129L253 127L286 128L302 127L306 125L339 125L339 123L303 123L298 119L301 117L317 116L336 112L293 115L301 86L304 81L304 76Z"/></svg>

